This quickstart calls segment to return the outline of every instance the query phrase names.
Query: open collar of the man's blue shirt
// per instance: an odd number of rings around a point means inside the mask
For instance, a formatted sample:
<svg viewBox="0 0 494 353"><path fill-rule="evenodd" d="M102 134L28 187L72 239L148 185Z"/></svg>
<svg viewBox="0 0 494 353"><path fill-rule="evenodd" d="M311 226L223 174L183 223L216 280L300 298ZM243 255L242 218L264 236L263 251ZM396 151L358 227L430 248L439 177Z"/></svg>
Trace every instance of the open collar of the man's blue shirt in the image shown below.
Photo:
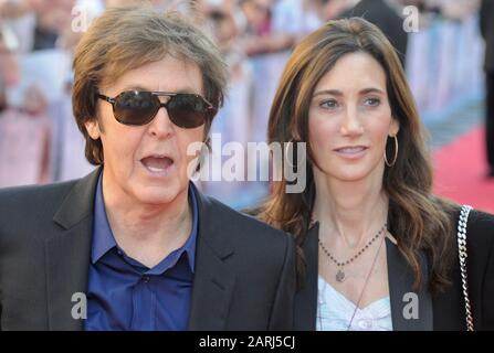
<svg viewBox="0 0 494 353"><path fill-rule="evenodd" d="M198 235L199 210L197 195L191 184L189 184L189 204L192 206L192 229L186 244L183 244L181 248L175 250L174 253L180 253L179 256L186 253L189 268L191 272L193 272L196 268L196 243ZM105 210L102 171L97 181L96 195L94 201L93 246L91 254L92 264L94 265L95 263L97 263L107 252L116 246L117 243L109 226Z"/></svg>

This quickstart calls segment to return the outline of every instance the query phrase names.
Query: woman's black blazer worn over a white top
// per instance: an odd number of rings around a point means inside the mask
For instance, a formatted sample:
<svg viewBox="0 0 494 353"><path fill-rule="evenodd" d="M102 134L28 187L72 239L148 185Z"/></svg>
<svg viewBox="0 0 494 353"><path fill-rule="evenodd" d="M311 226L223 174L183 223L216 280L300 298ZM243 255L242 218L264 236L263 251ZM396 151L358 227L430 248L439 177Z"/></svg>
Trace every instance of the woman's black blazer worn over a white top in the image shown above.
<svg viewBox="0 0 494 353"><path fill-rule="evenodd" d="M452 220L456 232L459 214ZM316 223L307 233L304 252L307 261L307 278L295 296L295 330L313 331L317 314L318 275L318 229ZM392 228L392 227L391 227ZM475 330L494 330L494 217L472 211L466 227L467 276L470 301ZM454 265L451 269L452 286L446 291L432 297L427 289L418 295L419 318L407 320L402 312L408 300L407 292L413 292L413 276L398 247L386 238L388 261L389 297L391 302L392 328L403 330L466 330L465 303L463 299L458 257L456 234L454 236ZM428 280L427 256L422 254L423 278ZM425 287L427 288L427 287Z"/></svg>

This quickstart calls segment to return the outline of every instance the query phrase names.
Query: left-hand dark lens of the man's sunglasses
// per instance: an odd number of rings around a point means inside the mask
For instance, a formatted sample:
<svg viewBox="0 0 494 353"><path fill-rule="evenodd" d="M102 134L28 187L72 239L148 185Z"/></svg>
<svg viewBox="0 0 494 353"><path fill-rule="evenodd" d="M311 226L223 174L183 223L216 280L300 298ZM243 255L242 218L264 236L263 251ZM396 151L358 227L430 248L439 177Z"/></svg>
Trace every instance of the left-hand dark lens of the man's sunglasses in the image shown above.
<svg viewBox="0 0 494 353"><path fill-rule="evenodd" d="M124 92L115 98L115 118L126 125L148 124L159 109L159 99L150 92Z"/></svg>

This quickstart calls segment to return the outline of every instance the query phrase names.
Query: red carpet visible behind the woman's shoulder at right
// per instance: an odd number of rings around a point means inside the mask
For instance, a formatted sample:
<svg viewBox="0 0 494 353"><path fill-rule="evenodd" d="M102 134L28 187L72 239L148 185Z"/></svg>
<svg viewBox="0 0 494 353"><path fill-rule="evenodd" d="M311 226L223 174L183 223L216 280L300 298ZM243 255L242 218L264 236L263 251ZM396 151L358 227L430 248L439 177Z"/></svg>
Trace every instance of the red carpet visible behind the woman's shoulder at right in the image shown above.
<svg viewBox="0 0 494 353"><path fill-rule="evenodd" d="M484 130L475 128L434 153L434 193L494 213L494 179L485 178Z"/></svg>

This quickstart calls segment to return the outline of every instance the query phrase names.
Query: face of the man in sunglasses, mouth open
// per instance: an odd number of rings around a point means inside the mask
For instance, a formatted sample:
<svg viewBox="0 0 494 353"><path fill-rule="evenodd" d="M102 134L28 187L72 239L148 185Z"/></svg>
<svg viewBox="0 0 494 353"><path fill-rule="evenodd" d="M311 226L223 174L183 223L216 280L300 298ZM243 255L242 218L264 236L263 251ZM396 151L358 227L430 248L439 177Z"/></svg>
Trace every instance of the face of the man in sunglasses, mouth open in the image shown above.
<svg viewBox="0 0 494 353"><path fill-rule="evenodd" d="M101 88L115 97L125 90L195 93L203 96L199 67L167 55L165 58L132 69L116 82ZM166 101L169 97L160 97ZM159 205L187 193L187 167L195 156L187 156L192 142L201 142L204 125L183 129L174 125L165 108L144 126L118 122L112 105L99 99L99 119L88 121L93 139L101 138L104 151L104 188L120 199L140 204Z"/></svg>

